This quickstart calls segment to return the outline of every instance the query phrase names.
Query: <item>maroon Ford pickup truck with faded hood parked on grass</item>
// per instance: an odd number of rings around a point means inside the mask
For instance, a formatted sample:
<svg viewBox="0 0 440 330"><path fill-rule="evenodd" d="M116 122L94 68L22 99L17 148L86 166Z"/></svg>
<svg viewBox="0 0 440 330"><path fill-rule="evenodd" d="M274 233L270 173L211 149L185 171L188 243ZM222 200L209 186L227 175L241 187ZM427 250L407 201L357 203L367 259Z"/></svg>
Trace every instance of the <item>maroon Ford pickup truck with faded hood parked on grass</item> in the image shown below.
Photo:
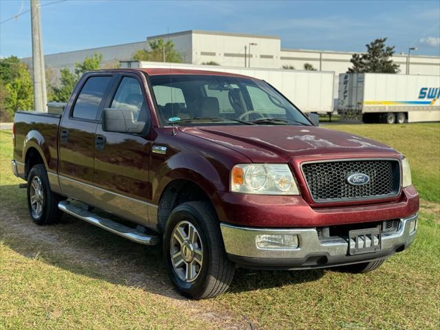
<svg viewBox="0 0 440 330"><path fill-rule="evenodd" d="M12 170L28 181L32 220L65 212L162 242L186 296L225 292L236 267L369 272L415 238L406 158L318 127L263 80L89 72L59 113L15 116Z"/></svg>

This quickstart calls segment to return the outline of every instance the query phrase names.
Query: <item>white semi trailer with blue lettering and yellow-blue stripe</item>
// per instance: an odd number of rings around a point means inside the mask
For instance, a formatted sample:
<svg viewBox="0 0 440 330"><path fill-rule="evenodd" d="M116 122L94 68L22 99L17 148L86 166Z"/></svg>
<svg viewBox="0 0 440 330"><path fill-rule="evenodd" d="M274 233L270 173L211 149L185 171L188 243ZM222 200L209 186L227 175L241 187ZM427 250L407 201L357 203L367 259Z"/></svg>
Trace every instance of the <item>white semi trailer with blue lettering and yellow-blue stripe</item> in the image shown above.
<svg viewBox="0 0 440 330"><path fill-rule="evenodd" d="M338 113L342 120L369 122L440 121L440 75L340 74Z"/></svg>

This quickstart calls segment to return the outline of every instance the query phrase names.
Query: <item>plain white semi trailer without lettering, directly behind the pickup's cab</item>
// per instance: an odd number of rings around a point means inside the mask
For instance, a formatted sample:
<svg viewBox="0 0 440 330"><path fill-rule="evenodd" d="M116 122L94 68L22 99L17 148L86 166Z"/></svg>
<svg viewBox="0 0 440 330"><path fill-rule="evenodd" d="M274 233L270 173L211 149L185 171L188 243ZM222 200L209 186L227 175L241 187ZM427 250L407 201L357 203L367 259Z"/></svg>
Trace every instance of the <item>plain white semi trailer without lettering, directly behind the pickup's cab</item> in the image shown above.
<svg viewBox="0 0 440 330"><path fill-rule="evenodd" d="M267 81L294 102L305 113L333 112L334 72L260 69L252 67L223 67L219 65L194 65L144 61L122 61L121 68L157 67L172 69L210 70L243 74Z"/></svg>

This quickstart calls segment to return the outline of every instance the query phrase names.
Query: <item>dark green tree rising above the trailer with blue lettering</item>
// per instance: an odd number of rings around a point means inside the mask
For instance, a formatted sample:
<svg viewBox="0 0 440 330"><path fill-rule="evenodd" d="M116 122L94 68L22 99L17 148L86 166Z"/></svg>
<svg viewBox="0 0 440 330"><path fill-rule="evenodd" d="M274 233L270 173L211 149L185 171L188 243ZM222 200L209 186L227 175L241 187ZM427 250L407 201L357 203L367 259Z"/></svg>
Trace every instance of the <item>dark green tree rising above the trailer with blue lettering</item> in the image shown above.
<svg viewBox="0 0 440 330"><path fill-rule="evenodd" d="M393 63L391 56L394 46L386 46L387 38L379 38L366 45L366 53L353 54L350 62L353 67L348 72L371 72L382 74L397 74L399 65Z"/></svg>

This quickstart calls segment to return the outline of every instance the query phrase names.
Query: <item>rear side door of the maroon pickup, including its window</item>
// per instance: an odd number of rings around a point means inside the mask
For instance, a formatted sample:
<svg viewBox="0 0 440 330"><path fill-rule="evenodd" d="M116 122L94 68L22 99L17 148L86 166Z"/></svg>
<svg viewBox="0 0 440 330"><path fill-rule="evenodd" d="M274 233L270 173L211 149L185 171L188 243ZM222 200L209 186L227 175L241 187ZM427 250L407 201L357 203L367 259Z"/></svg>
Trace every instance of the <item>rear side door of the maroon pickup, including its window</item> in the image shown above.
<svg viewBox="0 0 440 330"><path fill-rule="evenodd" d="M59 129L59 166L61 192L91 205L95 204L94 152L96 119L112 74L84 76L67 104Z"/></svg>

